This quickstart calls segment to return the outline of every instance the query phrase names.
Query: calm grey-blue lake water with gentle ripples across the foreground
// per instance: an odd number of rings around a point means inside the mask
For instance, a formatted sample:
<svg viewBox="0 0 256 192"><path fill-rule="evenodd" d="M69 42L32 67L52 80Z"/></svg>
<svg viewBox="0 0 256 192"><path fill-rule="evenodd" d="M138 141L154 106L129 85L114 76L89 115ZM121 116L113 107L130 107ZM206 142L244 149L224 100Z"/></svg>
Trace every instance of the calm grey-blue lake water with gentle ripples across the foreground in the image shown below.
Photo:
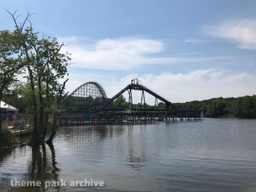
<svg viewBox="0 0 256 192"><path fill-rule="evenodd" d="M105 186L13 188L12 179ZM1 150L0 191L256 191L256 120L62 127L54 146Z"/></svg>

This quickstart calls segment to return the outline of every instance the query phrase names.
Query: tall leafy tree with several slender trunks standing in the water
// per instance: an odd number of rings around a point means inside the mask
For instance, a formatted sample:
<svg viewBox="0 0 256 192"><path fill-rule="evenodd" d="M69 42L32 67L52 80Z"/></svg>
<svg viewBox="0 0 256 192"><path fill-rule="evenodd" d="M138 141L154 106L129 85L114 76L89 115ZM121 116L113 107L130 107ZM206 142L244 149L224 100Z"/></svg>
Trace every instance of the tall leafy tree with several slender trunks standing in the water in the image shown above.
<svg viewBox="0 0 256 192"><path fill-rule="evenodd" d="M22 67L24 77L28 80L31 99L33 101L33 144L44 143L47 128L52 129L54 136L56 118L60 113L67 74L67 66L70 63L70 54L61 52L63 44L59 44L56 38L40 38L33 30L28 13L22 24L18 24L16 12L8 12L15 24L12 32L15 44L22 53ZM11 51L13 52L13 51ZM53 119L50 118L53 116ZM48 143L51 143L51 136Z"/></svg>

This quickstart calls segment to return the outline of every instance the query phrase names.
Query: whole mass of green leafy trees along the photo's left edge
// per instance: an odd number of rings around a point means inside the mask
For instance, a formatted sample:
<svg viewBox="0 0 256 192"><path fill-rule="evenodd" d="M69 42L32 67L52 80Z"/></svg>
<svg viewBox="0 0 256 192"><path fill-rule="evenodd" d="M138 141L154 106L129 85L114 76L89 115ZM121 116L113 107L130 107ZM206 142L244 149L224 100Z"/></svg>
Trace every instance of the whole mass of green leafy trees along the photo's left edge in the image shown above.
<svg viewBox="0 0 256 192"><path fill-rule="evenodd" d="M4 95L20 112L33 114L33 138L43 143L49 116L61 111L70 54L61 52L63 44L56 38L41 37L33 30L31 14L19 22L16 12L6 12L15 29L0 31L0 100ZM17 74L27 82L13 88Z"/></svg>

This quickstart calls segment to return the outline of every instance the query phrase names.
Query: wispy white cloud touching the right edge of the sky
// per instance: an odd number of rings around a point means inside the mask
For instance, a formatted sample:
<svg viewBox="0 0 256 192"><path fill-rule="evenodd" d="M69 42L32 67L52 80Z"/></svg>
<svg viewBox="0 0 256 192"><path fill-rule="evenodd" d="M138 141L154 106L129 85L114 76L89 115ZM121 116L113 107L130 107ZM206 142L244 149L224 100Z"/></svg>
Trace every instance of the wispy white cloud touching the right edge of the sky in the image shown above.
<svg viewBox="0 0 256 192"><path fill-rule="evenodd" d="M204 26L207 33L227 38L241 49L256 49L256 19L225 20L216 26Z"/></svg>

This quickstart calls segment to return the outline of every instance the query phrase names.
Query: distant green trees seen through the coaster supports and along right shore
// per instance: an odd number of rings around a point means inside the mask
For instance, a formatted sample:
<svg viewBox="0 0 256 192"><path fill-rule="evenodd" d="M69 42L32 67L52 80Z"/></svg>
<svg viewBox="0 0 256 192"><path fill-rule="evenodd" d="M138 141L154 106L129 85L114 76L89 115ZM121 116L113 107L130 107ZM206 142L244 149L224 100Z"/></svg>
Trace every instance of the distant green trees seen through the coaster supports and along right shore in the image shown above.
<svg viewBox="0 0 256 192"><path fill-rule="evenodd" d="M177 108L202 109L205 117L236 117L256 118L256 95L244 97L212 98L208 100L193 100L184 103L174 103ZM114 102L113 108L128 108L129 104L123 95L120 95ZM143 104L134 104L134 109L144 108ZM145 104L149 109L165 109L165 104L159 102L156 106Z"/></svg>

